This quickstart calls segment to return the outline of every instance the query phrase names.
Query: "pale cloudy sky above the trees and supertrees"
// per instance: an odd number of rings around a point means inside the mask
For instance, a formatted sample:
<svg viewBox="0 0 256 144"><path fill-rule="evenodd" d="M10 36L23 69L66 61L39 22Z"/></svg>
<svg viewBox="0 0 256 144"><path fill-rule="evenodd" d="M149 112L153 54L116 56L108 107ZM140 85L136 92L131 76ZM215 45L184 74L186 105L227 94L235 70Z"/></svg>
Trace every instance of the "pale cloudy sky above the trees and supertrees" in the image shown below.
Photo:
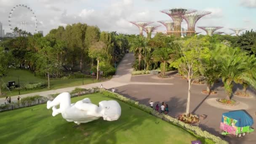
<svg viewBox="0 0 256 144"><path fill-rule="evenodd" d="M201 18L198 26L221 26L219 32L232 31L229 28L256 29L256 0L0 0L0 22L3 29L11 32L8 16L15 5L24 4L32 8L37 19L37 31L46 35L51 29L67 24L86 23L97 25L101 31L139 34L139 29L129 21L171 20L160 10L170 8L191 8L211 11ZM34 33L35 20L31 11L18 7L13 11L11 27L21 27L21 21L27 21L27 31ZM24 25L23 25L24 26ZM182 27L187 27L182 22ZM196 28L197 32L205 32Z"/></svg>

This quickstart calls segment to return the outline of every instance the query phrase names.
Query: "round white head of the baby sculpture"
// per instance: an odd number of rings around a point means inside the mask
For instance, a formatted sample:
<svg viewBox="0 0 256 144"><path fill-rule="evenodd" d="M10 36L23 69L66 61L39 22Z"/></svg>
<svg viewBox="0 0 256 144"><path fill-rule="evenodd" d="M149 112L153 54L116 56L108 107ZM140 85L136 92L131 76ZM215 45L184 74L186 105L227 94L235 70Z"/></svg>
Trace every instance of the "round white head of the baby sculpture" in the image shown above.
<svg viewBox="0 0 256 144"><path fill-rule="evenodd" d="M121 116L121 107L117 101L101 101L99 107L104 120L113 121Z"/></svg>

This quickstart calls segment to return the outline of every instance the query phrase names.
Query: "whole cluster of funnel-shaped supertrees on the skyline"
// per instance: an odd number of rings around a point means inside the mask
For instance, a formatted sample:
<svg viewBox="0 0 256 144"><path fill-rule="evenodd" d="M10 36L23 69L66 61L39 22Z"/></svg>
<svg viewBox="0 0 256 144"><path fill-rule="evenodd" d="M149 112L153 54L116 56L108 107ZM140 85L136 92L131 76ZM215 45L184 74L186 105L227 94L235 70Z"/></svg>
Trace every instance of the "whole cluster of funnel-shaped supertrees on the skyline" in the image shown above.
<svg viewBox="0 0 256 144"><path fill-rule="evenodd" d="M164 20L164 21L157 21L163 24L166 27L166 34L167 35L175 35L177 37L183 36L182 33L185 33L187 36L197 35L200 32L195 31L195 24L199 19L201 19L203 16L210 14L210 11L197 11L194 9L185 9L185 8L172 8L168 10L160 11L162 13L167 14L171 17L170 20ZM187 22L187 30L182 32L181 29L181 22L185 20ZM143 22L143 21L130 21L132 24L135 24L137 27L139 27L139 33L142 36L143 31L147 32L148 37L151 37L151 33L154 32L159 25L152 25L153 22ZM151 24L151 25L149 25ZM218 29L221 29L223 27L215 27L215 26L208 26L208 27L198 27L200 29L203 29L207 35L213 35L217 34L220 35L224 32L215 32ZM242 30L244 29L231 29L235 33L225 33L226 35L238 35Z"/></svg>

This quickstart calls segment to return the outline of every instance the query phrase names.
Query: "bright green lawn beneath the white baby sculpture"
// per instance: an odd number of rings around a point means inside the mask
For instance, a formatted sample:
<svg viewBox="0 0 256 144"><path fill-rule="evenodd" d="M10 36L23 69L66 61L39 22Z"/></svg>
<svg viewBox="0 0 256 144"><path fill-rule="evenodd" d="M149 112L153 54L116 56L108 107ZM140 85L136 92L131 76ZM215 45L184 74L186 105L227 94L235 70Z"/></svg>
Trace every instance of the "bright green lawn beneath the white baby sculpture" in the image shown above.
<svg viewBox="0 0 256 144"><path fill-rule="evenodd" d="M94 104L111 98L101 93L88 97ZM191 144L197 138L182 128L118 101L122 114L117 121L102 118L76 125L61 115L52 117L46 104L0 113L2 144ZM209 140L207 140L209 141Z"/></svg>

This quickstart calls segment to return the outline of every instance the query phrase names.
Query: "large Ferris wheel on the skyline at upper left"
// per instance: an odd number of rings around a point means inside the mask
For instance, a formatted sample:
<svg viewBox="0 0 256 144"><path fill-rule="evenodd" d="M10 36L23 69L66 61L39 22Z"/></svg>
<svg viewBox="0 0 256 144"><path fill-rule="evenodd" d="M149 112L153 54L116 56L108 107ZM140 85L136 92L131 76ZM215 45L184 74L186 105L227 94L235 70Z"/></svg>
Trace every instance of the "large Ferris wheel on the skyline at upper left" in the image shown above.
<svg viewBox="0 0 256 144"><path fill-rule="evenodd" d="M8 16L8 25L10 27L10 30L11 32L13 32L14 30L14 27L17 27L15 26L15 24L13 23L14 21L14 18L13 18L13 13L15 13L15 10L18 8L18 7L21 7L21 8L25 8L27 9L27 11L32 14L32 21L34 24L32 24L33 26L33 33L37 33L37 18L36 18L36 15L35 15L35 12L32 10L32 8L29 8L27 5L16 5L14 6L12 9L11 9L11 12L9 13L9 16ZM20 25L20 29L22 31L26 31L27 32L27 21L19 21L19 23L21 24Z"/></svg>

